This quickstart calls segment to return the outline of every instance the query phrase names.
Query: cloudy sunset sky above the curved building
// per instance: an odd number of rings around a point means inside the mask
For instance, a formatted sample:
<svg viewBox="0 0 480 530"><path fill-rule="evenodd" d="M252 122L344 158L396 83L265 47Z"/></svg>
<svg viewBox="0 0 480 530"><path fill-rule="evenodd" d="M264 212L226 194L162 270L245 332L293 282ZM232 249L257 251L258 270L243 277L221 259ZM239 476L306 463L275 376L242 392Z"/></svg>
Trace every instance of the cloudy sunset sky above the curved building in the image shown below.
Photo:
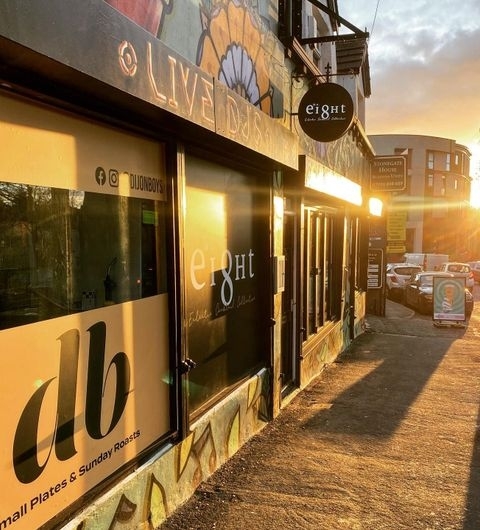
<svg viewBox="0 0 480 530"><path fill-rule="evenodd" d="M338 8L370 33L367 134L453 139L472 151L477 176L480 1L338 0Z"/></svg>

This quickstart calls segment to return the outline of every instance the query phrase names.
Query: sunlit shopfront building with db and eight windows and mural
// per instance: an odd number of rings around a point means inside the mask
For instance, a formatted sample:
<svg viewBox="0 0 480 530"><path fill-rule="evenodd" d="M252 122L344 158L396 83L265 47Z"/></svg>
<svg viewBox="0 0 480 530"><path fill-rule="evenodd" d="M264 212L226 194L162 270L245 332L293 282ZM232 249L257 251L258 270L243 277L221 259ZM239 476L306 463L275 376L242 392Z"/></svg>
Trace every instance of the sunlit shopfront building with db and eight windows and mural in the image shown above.
<svg viewBox="0 0 480 530"><path fill-rule="evenodd" d="M0 6L2 528L156 528L362 332L366 38L318 4Z"/></svg>

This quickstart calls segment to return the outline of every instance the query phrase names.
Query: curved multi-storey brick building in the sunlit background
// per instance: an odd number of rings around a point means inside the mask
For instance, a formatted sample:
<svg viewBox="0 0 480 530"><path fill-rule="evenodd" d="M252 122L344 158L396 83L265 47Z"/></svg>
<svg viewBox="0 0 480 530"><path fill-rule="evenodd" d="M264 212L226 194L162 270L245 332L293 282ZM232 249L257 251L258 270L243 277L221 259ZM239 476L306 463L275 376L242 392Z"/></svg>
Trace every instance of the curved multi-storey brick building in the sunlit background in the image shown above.
<svg viewBox="0 0 480 530"><path fill-rule="evenodd" d="M407 162L406 188L385 196L389 261L403 261L405 252L475 259L468 148L425 135L381 134L369 139L378 156L403 155Z"/></svg>

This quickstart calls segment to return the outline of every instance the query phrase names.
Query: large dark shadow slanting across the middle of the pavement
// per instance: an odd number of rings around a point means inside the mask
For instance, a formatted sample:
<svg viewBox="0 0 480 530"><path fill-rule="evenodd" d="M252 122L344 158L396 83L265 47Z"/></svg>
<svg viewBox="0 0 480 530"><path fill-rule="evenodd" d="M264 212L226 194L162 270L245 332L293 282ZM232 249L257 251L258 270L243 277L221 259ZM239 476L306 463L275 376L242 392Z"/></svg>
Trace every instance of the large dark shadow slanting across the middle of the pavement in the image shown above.
<svg viewBox="0 0 480 530"><path fill-rule="evenodd" d="M357 380L306 424L323 432L389 437L435 372L452 340L365 334L342 363L368 361L378 366ZM434 344L435 342L435 344Z"/></svg>

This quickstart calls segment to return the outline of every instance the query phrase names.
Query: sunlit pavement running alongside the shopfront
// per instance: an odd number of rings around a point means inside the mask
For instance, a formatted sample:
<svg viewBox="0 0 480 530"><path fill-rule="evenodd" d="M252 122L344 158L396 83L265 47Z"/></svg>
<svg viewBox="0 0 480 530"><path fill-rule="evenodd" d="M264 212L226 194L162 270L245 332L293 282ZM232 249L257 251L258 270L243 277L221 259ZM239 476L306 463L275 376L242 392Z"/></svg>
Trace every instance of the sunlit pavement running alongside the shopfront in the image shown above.
<svg viewBox="0 0 480 530"><path fill-rule="evenodd" d="M480 529L479 336L388 301L160 529Z"/></svg>

